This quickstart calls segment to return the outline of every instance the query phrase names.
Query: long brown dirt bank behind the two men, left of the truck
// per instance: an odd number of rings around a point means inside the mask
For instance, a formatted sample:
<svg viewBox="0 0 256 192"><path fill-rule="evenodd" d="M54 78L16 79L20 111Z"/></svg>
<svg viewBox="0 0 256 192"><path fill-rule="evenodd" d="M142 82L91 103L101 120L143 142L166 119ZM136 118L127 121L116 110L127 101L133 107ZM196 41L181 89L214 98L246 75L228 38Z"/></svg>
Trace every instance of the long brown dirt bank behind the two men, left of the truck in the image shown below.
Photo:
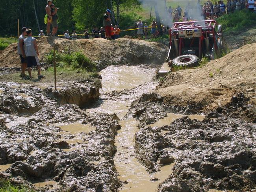
<svg viewBox="0 0 256 192"><path fill-rule="evenodd" d="M102 38L79 39L70 41L58 37L43 37L37 39L39 59L43 61L45 54L50 52L53 44L59 52L81 51L85 56L98 63L99 68L115 64L160 64L164 61L167 46L158 42L148 42L137 39L117 39L108 41ZM20 66L17 54L17 43L9 45L0 56L0 67Z"/></svg>

